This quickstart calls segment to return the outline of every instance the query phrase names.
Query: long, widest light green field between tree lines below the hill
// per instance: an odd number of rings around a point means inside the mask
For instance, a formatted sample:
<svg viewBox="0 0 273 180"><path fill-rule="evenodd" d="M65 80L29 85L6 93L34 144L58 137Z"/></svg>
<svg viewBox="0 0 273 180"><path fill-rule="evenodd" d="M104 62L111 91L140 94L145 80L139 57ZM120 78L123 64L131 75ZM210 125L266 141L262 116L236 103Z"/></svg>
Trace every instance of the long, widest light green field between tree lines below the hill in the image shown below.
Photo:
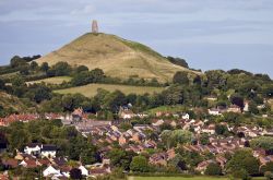
<svg viewBox="0 0 273 180"><path fill-rule="evenodd" d="M96 95L98 88L104 88L109 92L119 89L127 95L130 93L135 93L135 94L151 93L152 94L154 92L162 92L164 89L164 87L112 85L112 84L88 84L88 85L79 86L79 87L71 87L71 88L55 91L55 93L60 93L60 94L81 93L86 97L92 97Z"/></svg>

